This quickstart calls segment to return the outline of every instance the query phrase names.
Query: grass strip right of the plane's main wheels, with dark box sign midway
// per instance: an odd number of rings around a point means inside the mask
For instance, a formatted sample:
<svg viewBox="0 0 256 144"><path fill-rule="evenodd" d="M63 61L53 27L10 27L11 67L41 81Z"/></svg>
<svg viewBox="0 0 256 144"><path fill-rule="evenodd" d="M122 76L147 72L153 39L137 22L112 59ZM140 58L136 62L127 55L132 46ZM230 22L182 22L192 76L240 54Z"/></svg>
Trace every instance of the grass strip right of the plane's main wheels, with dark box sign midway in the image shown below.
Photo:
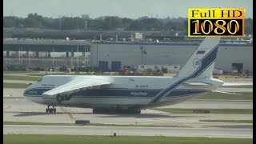
<svg viewBox="0 0 256 144"><path fill-rule="evenodd" d="M173 114L193 114L195 109L165 109L156 108L153 110L160 110ZM201 110L201 109L200 109ZM253 114L252 109L206 109L210 110L210 114Z"/></svg>

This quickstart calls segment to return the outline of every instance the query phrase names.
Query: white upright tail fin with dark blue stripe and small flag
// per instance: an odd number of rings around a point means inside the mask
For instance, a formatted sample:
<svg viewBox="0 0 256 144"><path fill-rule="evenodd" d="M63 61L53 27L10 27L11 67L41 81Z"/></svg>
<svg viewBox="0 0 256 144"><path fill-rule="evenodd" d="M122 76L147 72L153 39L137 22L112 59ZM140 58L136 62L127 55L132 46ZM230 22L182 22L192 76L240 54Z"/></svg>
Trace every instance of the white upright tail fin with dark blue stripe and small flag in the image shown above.
<svg viewBox="0 0 256 144"><path fill-rule="evenodd" d="M175 77L212 78L220 39L205 38Z"/></svg>

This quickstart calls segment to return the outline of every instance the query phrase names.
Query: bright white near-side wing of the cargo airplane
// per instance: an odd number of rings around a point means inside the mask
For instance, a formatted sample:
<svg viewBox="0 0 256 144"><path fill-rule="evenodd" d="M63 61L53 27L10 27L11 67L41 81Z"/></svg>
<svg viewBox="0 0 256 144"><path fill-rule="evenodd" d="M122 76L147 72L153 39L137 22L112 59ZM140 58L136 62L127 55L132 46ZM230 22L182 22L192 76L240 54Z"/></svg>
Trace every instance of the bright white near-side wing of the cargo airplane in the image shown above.
<svg viewBox="0 0 256 144"><path fill-rule="evenodd" d="M74 78L62 86L55 87L52 90L43 93L43 96L54 96L57 94L72 94L79 90L99 89L102 86L111 86L111 82L105 82L98 78Z"/></svg>

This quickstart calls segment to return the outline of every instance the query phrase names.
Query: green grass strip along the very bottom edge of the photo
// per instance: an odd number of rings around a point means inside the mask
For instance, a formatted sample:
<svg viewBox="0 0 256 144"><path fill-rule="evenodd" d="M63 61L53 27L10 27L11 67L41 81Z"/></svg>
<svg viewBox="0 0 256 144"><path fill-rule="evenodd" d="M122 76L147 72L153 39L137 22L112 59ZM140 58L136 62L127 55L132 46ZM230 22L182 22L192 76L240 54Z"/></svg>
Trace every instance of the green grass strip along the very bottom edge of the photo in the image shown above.
<svg viewBox="0 0 256 144"><path fill-rule="evenodd" d="M96 136L96 135L42 135L42 134L3 134L3 143L13 144L84 144L84 143L105 143L105 144L247 144L253 143L252 138L178 138L164 136Z"/></svg>

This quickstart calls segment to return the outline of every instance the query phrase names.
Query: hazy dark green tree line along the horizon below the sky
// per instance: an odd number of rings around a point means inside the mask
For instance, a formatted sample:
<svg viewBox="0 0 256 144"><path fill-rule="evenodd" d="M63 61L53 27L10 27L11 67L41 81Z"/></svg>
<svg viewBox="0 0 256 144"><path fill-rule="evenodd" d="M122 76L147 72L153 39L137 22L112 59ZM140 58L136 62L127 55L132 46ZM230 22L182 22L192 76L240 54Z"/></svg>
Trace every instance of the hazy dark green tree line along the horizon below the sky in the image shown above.
<svg viewBox="0 0 256 144"><path fill-rule="evenodd" d="M62 17L47 18L38 14L28 14L27 18L3 17L4 28L38 28L51 30L158 30L187 32L187 18L149 18L137 19L106 16L100 18ZM245 19L245 33L253 33L253 19Z"/></svg>

